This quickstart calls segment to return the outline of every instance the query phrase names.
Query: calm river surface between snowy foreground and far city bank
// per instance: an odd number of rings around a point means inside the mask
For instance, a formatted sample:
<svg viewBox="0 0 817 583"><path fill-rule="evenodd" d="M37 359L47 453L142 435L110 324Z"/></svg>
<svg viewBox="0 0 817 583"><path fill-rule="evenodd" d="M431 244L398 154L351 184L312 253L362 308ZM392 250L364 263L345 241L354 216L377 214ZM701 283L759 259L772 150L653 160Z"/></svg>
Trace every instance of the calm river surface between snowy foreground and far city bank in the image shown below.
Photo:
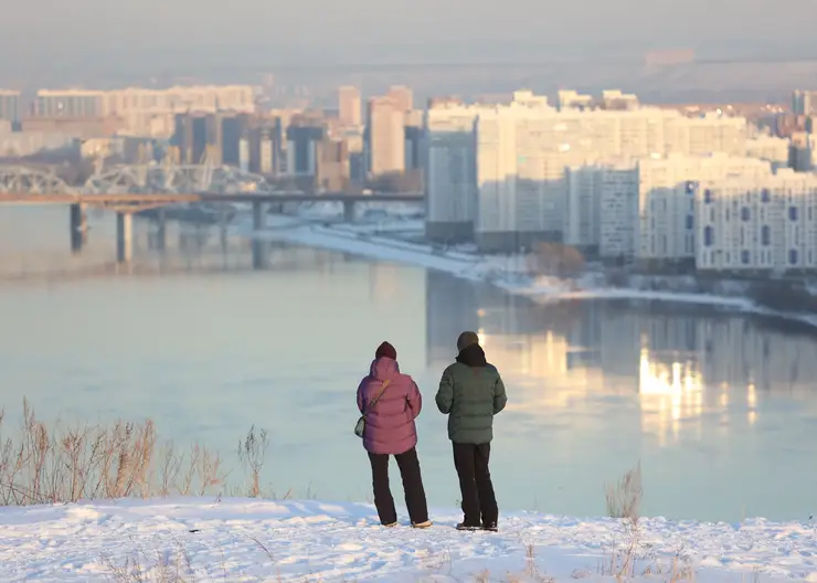
<svg viewBox="0 0 817 583"><path fill-rule="evenodd" d="M32 223L0 209L0 265L66 261L67 216L43 211ZM94 220L95 251L76 261L115 253L113 221ZM647 513L738 520L813 510L811 333L628 301L540 306L436 272L280 244L269 246L268 271L252 272L245 241L230 237L224 248L216 231L199 230L181 245L197 230L178 225L162 259L150 225L137 229L141 261L187 271L0 285L3 404L24 394L76 418L152 416L169 436L220 448L227 465L236 437L266 426L277 488L362 499L368 462L349 428L352 395L388 338L425 398L429 500L450 506L457 484L433 395L469 329L510 396L492 454L503 509L602 513L604 481L640 459Z"/></svg>

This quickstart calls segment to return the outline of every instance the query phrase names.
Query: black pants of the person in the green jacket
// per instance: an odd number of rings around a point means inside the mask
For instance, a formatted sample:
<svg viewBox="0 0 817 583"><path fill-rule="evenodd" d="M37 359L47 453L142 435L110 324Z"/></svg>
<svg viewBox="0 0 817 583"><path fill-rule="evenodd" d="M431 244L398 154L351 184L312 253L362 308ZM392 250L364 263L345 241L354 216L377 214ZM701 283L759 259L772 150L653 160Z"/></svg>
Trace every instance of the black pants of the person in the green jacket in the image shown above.
<svg viewBox="0 0 817 583"><path fill-rule="evenodd" d="M463 495L463 522L467 527L494 524L499 520L497 497L488 470L491 444L454 444L454 467ZM481 521L480 521L481 519Z"/></svg>

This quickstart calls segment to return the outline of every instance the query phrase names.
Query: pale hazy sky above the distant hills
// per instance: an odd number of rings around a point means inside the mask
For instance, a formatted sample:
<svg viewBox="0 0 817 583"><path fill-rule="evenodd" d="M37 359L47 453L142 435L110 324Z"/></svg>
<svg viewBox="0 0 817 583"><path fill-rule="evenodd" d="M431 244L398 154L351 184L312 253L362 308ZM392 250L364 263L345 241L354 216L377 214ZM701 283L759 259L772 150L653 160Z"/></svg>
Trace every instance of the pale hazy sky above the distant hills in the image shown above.
<svg viewBox="0 0 817 583"><path fill-rule="evenodd" d="M497 42L739 42L754 52L798 44L794 52L817 53L817 0L0 0L0 50L18 66L39 67L52 56L206 61L206 51L247 45L312 61L337 57L338 49L320 45L340 43L490 52Z"/></svg>

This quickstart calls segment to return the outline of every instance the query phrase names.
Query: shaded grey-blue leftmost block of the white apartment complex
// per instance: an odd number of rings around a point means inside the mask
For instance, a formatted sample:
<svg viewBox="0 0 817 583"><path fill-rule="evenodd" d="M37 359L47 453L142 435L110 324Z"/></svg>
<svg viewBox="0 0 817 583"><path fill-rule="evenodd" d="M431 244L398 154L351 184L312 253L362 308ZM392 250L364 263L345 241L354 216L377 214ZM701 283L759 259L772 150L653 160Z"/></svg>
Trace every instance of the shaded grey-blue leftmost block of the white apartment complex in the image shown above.
<svg viewBox="0 0 817 583"><path fill-rule="evenodd" d="M478 107L445 102L425 113L426 236L470 239L477 214L476 137Z"/></svg>

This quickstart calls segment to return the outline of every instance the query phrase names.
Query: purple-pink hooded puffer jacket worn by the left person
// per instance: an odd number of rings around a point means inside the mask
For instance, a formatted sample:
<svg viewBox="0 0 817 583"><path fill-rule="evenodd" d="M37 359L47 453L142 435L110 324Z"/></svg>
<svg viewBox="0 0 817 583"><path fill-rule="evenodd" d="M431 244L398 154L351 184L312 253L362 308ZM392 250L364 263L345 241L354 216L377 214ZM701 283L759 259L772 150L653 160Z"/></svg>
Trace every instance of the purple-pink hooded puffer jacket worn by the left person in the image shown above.
<svg viewBox="0 0 817 583"><path fill-rule="evenodd" d="M383 383L389 381L374 405ZM372 361L369 374L358 386L358 409L365 415L363 447L371 454L403 454L417 445L414 420L423 398L414 380L400 372L396 360L381 357Z"/></svg>

